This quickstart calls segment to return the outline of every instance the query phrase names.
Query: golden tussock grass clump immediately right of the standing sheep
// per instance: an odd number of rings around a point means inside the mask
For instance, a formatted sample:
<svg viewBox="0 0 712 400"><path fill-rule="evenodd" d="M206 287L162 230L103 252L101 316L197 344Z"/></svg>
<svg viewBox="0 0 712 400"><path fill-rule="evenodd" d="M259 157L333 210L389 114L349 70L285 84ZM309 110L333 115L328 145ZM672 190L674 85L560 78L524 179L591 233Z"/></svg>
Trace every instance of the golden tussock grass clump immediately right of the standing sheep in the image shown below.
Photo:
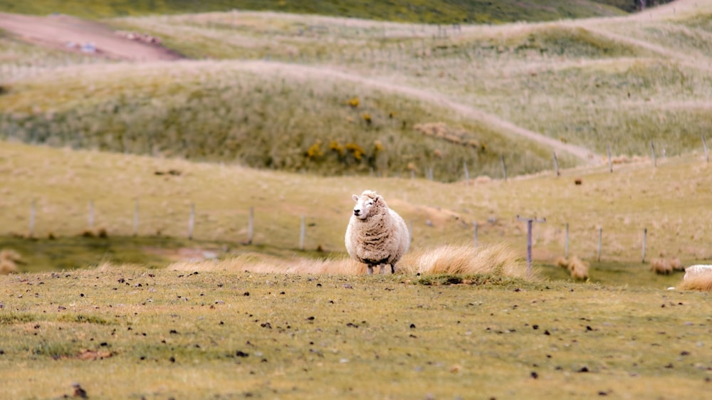
<svg viewBox="0 0 712 400"><path fill-rule="evenodd" d="M472 246L446 245L411 253L402 261L404 273L486 274L527 278L524 260L504 243Z"/></svg>

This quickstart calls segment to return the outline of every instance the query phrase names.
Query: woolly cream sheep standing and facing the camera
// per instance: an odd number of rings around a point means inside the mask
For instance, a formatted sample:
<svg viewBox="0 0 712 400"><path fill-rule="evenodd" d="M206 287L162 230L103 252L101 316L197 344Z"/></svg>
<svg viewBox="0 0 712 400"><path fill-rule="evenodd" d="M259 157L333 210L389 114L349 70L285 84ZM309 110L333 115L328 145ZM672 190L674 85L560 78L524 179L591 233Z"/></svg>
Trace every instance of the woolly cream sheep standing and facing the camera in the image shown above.
<svg viewBox="0 0 712 400"><path fill-rule="evenodd" d="M386 201L375 191L366 190L361 196L352 196L356 201L353 214L346 228L346 251L349 256L365 263L368 274L378 265L385 273L386 265L391 273L396 263L410 246L410 232L397 212L388 208Z"/></svg>

